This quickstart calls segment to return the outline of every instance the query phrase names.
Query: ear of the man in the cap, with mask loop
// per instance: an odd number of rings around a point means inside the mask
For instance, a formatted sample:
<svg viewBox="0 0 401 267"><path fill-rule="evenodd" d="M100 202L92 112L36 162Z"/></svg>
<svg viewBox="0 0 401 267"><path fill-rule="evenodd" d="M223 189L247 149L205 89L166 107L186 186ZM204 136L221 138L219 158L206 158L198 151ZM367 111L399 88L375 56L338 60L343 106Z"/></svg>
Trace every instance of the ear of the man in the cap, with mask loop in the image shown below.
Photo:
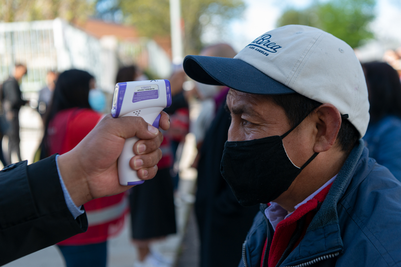
<svg viewBox="0 0 401 267"><path fill-rule="evenodd" d="M341 127L341 114L332 104L322 104L315 110L317 115L315 152L328 151L336 142L338 131Z"/></svg>

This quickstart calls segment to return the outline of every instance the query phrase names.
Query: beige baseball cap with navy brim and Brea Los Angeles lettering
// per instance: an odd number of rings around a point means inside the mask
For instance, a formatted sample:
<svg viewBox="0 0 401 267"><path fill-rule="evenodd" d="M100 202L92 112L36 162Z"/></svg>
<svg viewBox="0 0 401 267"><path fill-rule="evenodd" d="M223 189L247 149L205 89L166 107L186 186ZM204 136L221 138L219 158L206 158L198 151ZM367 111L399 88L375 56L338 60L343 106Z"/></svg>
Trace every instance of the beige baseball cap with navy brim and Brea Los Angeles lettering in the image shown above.
<svg viewBox="0 0 401 267"><path fill-rule="evenodd" d="M332 34L303 25L276 28L234 58L186 56L188 76L251 94L291 94L336 106L360 133L369 124L368 91L352 48Z"/></svg>

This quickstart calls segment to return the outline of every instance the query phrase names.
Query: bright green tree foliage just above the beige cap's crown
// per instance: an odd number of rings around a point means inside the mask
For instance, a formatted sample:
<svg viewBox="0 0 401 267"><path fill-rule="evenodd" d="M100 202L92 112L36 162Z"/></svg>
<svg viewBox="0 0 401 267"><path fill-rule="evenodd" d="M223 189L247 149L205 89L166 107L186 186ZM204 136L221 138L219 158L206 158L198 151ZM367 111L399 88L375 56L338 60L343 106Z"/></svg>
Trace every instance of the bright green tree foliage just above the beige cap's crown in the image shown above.
<svg viewBox="0 0 401 267"><path fill-rule="evenodd" d="M373 37L368 24L375 18L375 0L330 0L314 2L304 10L289 8L277 26L302 24L320 28L344 40L352 48Z"/></svg>

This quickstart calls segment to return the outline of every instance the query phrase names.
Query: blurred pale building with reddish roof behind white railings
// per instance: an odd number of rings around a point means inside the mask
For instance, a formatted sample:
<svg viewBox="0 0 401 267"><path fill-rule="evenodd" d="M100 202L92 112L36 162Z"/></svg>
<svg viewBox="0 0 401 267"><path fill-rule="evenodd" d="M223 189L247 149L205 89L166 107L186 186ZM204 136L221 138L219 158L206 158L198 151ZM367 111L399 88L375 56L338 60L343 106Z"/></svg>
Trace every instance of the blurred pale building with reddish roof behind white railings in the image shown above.
<svg viewBox="0 0 401 267"><path fill-rule="evenodd" d="M160 78L171 68L168 52L137 36L134 28L97 20L77 27L58 18L0 23L0 81L12 74L15 63L28 68L24 92L39 90L49 70L87 70L101 89L112 92L119 66L137 64Z"/></svg>

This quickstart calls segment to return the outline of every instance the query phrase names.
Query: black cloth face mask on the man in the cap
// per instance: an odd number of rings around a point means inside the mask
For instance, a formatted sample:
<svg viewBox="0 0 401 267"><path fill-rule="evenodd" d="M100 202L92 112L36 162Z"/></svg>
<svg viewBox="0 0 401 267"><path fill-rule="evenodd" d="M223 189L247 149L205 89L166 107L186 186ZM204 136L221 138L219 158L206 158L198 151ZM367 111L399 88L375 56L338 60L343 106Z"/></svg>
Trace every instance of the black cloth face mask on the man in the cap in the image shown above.
<svg viewBox="0 0 401 267"><path fill-rule="evenodd" d="M220 171L239 204L249 207L273 201L319 154L314 153L301 168L291 162L283 139L297 126L282 136L225 143Z"/></svg>

